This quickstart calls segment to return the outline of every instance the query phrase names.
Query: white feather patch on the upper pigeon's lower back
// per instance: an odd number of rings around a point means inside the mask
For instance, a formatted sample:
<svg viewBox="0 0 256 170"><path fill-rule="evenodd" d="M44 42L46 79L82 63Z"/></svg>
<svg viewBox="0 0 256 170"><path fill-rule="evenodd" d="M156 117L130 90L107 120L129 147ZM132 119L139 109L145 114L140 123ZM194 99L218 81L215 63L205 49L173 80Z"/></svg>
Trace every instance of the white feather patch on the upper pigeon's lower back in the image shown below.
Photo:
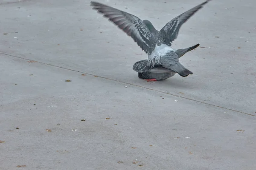
<svg viewBox="0 0 256 170"><path fill-rule="evenodd" d="M160 58L165 56L169 51L175 51L172 47L161 44L160 46L156 45L154 51L150 55L148 55L148 66L151 64L154 66L155 64L161 64Z"/></svg>

